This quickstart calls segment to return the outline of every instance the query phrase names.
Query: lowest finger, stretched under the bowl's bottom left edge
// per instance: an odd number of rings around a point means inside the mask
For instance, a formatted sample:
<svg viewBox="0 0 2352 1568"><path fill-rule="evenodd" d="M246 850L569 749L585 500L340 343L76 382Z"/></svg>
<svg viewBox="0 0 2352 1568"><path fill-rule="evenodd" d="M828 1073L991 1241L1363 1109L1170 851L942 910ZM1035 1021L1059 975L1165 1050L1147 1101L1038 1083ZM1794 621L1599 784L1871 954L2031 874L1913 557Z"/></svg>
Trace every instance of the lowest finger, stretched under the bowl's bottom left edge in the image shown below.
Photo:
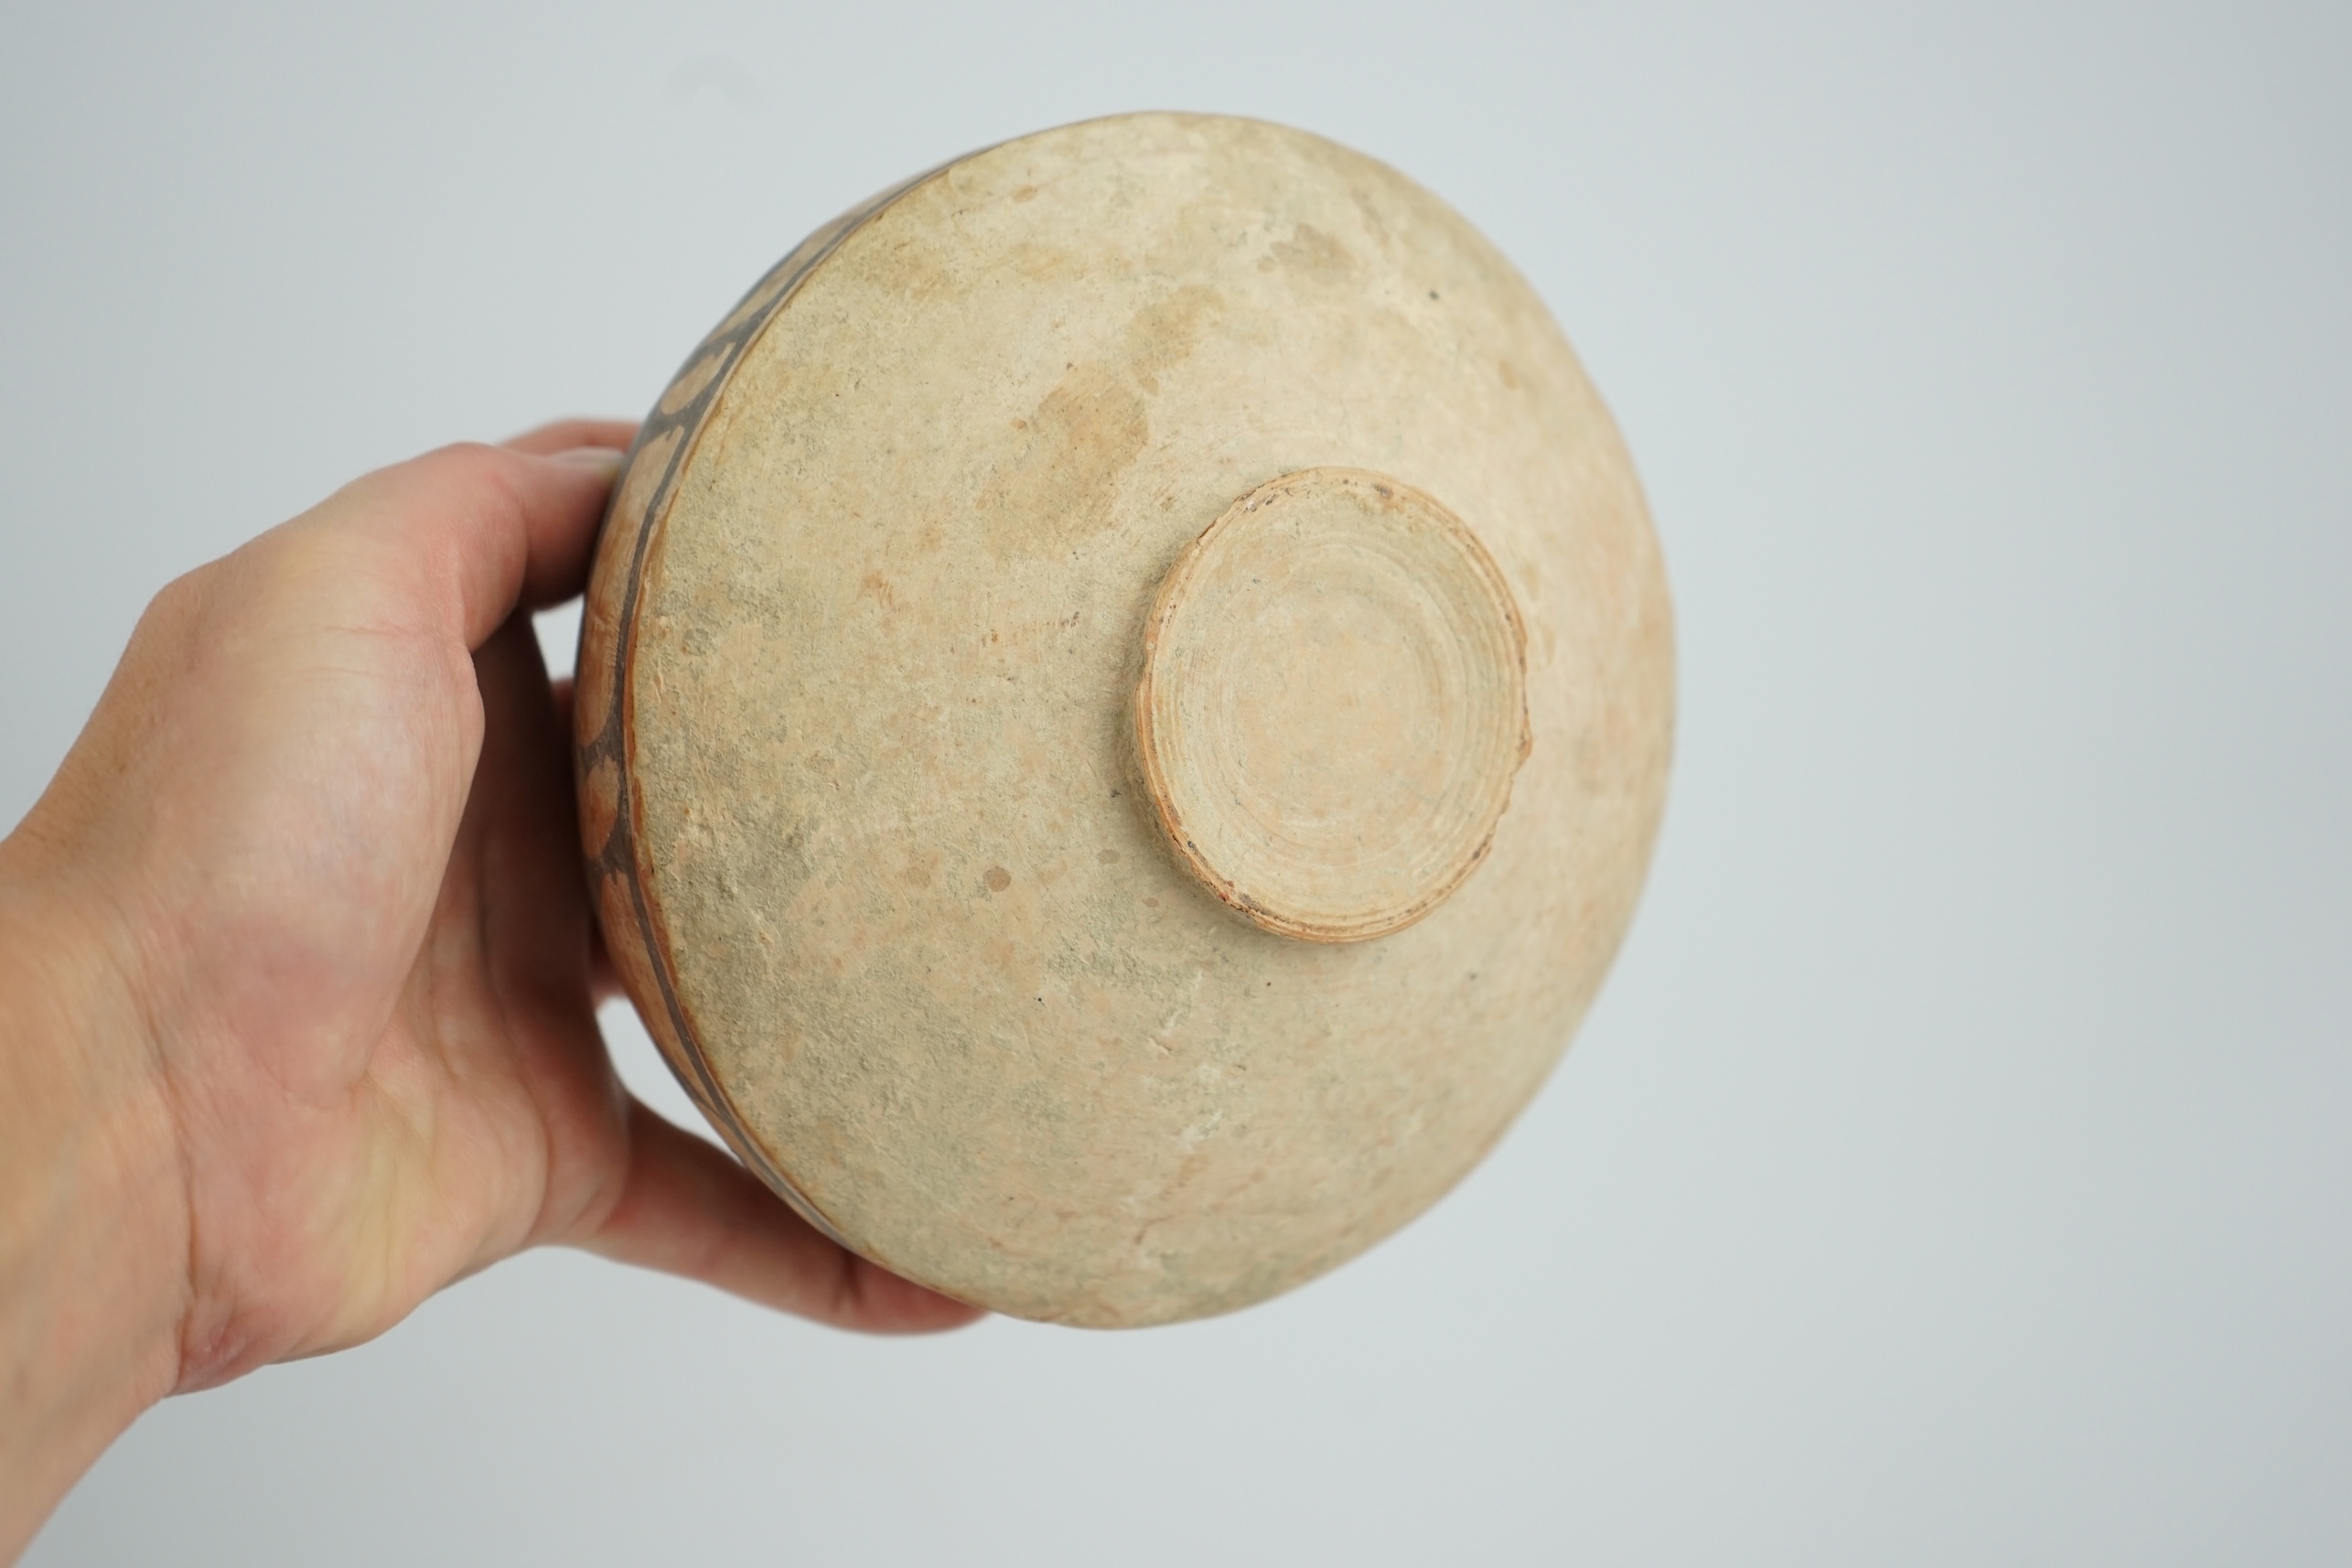
<svg viewBox="0 0 2352 1568"><path fill-rule="evenodd" d="M579 1241L593 1253L835 1328L931 1333L981 1316L816 1234L722 1150L635 1100L628 1143L621 1201Z"/></svg>

